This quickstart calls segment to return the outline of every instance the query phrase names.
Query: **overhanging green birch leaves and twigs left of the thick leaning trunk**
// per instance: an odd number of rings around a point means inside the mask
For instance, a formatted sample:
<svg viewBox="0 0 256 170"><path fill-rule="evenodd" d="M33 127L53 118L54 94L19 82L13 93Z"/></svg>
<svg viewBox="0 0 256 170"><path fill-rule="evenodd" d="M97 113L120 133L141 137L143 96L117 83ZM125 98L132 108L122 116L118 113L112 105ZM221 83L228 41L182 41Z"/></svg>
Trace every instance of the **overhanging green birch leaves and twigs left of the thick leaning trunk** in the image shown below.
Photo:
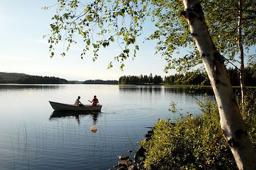
<svg viewBox="0 0 256 170"><path fill-rule="evenodd" d="M186 48L193 45L186 20L180 16L183 6L179 1L95 0L82 4L77 0L57 0L56 6L48 40L51 57L54 56L57 44L64 41L68 51L72 44L77 43L75 39L79 35L84 41L82 58L88 50L93 49L93 60L96 60L101 47L118 43L122 50L114 60L121 62L120 69L123 69L123 62L129 57L131 49L133 57L140 49L136 41L143 33L145 20L150 20L156 31L147 39L157 39L156 52L161 52L168 61L166 71L177 65L187 69L187 66L202 63L199 57L194 59L193 55L185 56L184 59L172 58L175 50L179 53L180 46ZM196 52L192 54L198 56ZM66 53L61 55L65 56ZM112 62L108 67L113 67Z"/></svg>

